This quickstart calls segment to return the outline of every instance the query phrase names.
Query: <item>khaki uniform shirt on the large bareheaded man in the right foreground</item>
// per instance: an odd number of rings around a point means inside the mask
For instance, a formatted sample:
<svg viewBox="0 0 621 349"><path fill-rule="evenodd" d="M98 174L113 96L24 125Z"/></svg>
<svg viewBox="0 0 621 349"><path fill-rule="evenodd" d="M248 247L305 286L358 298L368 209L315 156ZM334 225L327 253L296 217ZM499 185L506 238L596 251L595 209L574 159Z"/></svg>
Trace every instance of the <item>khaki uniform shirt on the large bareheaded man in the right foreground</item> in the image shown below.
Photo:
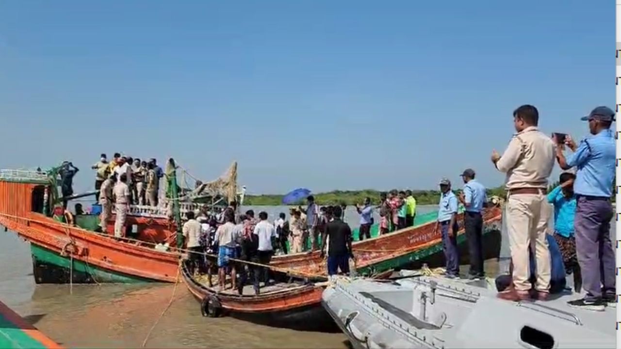
<svg viewBox="0 0 621 349"><path fill-rule="evenodd" d="M548 177L556 156L555 147L551 138L537 127L527 127L515 134L496 162L496 168L507 174L507 190L548 188Z"/></svg>

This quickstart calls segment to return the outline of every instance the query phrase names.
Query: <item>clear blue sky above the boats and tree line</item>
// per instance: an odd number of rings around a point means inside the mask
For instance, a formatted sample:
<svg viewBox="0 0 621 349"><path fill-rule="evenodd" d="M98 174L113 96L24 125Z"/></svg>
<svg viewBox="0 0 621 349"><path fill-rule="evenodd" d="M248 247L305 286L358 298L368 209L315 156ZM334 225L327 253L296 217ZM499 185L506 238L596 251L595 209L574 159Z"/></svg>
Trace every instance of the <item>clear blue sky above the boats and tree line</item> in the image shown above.
<svg viewBox="0 0 621 349"><path fill-rule="evenodd" d="M512 111L579 138L614 106L614 1L2 1L2 168L99 153L251 193L435 188L489 161Z"/></svg>

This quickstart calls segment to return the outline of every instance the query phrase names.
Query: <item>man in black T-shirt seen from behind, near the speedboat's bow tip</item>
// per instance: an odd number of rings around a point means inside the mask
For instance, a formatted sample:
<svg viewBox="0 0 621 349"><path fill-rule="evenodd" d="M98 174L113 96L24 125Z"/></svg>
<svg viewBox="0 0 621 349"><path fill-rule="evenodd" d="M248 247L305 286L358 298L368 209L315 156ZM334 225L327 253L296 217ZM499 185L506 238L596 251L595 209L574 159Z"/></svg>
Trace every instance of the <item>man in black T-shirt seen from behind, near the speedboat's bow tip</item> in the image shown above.
<svg viewBox="0 0 621 349"><path fill-rule="evenodd" d="M349 259L353 259L351 250L351 229L347 223L341 220L342 209L340 206L333 208L334 219L327 224L325 234L321 242L321 256L325 255L326 237L330 240L328 246L328 275L335 275L340 269L341 273L349 273Z"/></svg>

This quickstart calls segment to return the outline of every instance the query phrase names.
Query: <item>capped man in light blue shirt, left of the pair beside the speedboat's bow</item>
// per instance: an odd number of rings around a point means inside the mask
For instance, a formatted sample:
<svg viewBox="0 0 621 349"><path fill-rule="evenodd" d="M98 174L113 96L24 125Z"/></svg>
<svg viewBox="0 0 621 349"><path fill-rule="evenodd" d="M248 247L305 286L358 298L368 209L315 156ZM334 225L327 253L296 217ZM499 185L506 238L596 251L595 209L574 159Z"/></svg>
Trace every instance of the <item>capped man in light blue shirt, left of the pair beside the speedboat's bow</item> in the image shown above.
<svg viewBox="0 0 621 349"><path fill-rule="evenodd" d="M459 278L460 255L457 249L457 197L451 191L451 181L443 178L440 181L440 204L438 207L438 222L433 229L433 234L442 233L442 250L446 258L446 277Z"/></svg>

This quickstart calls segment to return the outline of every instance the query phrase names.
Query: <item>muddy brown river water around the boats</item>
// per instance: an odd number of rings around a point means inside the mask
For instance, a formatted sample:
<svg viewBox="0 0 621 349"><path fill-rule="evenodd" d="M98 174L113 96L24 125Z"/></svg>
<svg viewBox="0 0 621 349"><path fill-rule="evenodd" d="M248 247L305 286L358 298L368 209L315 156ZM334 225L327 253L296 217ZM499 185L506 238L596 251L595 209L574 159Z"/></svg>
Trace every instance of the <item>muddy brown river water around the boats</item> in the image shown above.
<svg viewBox="0 0 621 349"><path fill-rule="evenodd" d="M279 212L287 212L286 207L250 208L256 214L268 212L270 219ZM434 208L421 206L419 212ZM347 210L345 219L357 227L358 215L353 209ZM504 238L501 256L507 256L506 241ZM35 285L29 245L10 231L0 231L0 265L2 302L65 347L138 348L170 302L170 308L148 337L147 348L348 347L345 335L335 330L327 318L318 320L325 324L315 324L322 328L319 331L259 325L232 317L202 317L199 305L183 283L72 288ZM486 270L489 275L498 273L497 260L487 260Z"/></svg>

